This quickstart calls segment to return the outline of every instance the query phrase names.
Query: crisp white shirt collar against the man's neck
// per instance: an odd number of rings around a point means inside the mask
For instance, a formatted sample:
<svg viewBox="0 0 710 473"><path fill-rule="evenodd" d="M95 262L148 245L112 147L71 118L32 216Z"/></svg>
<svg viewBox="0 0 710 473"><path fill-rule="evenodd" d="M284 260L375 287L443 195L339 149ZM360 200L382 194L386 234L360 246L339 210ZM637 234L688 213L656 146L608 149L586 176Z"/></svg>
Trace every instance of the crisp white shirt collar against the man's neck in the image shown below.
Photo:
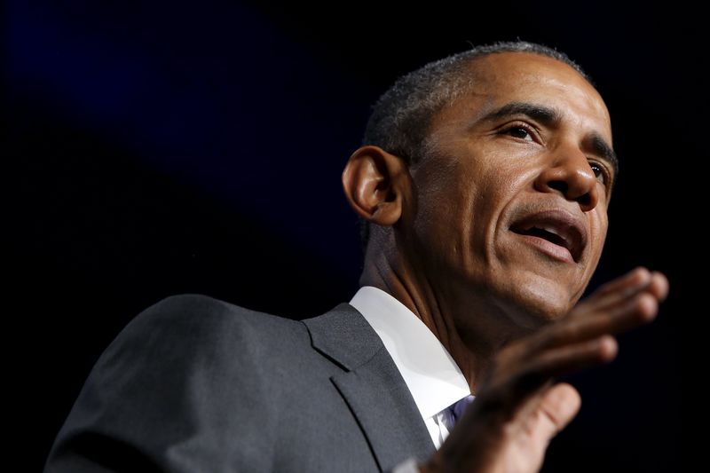
<svg viewBox="0 0 710 473"><path fill-rule="evenodd" d="M469 383L444 345L405 304L372 286L359 288L350 304L382 339L422 418L470 394Z"/></svg>

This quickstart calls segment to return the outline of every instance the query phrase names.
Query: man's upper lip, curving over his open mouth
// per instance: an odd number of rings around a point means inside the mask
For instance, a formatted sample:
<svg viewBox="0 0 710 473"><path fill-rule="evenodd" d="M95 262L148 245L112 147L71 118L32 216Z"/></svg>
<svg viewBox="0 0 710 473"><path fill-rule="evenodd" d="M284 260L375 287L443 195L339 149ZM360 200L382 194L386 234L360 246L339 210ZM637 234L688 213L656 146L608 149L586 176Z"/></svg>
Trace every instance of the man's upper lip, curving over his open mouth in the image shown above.
<svg viewBox="0 0 710 473"><path fill-rule="evenodd" d="M553 243L567 248L575 262L580 261L587 247L588 233L584 220L563 209L549 209L526 214L517 219L510 230L527 233L533 229L553 233L557 236Z"/></svg>

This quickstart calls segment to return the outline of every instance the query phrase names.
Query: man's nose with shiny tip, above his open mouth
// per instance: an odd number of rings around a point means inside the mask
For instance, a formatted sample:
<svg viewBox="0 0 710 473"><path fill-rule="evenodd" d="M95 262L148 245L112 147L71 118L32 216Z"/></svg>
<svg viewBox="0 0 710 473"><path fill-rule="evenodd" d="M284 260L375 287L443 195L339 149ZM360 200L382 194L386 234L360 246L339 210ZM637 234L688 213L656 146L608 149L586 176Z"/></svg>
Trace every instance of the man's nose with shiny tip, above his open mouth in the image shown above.
<svg viewBox="0 0 710 473"><path fill-rule="evenodd" d="M559 150L535 179L535 188L544 193L561 193L568 201L576 201L584 212L596 207L599 189L594 171L579 148Z"/></svg>

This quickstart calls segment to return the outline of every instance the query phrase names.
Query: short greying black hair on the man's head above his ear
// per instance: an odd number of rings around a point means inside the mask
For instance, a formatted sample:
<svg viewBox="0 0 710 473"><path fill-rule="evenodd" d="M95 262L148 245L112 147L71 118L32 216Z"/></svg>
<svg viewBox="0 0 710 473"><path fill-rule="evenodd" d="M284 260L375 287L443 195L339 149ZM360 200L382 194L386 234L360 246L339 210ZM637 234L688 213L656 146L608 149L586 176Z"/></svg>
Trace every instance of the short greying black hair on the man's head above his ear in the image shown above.
<svg viewBox="0 0 710 473"><path fill-rule="evenodd" d="M548 56L574 68L588 83L594 84L564 52L542 44L514 41L475 46L399 77L372 107L362 146L379 146L388 153L402 157L410 166L419 162L431 118L469 91L472 85L468 67L470 61L499 52L529 52ZM359 220L360 240L365 251L370 235L369 222L361 217Z"/></svg>

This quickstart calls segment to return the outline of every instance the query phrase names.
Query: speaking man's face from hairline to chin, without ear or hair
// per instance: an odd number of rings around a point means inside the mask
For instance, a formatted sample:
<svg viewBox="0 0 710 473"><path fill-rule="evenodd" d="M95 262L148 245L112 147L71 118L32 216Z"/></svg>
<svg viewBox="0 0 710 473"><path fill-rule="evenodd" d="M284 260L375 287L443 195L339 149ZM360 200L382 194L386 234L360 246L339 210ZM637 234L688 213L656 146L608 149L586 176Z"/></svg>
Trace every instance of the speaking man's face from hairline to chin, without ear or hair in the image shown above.
<svg viewBox="0 0 710 473"><path fill-rule="evenodd" d="M555 59L493 54L471 75L411 169L410 257L444 300L537 327L572 308L601 256L615 172L609 114Z"/></svg>

